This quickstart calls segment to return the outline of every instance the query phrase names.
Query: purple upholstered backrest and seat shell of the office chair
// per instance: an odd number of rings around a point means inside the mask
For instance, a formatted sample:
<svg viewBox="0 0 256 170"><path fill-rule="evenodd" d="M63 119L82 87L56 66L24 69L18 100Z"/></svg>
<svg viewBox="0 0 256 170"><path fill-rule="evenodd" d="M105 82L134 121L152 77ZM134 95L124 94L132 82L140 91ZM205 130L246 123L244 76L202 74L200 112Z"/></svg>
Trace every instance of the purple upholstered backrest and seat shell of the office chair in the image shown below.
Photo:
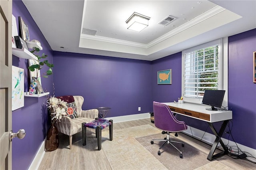
<svg viewBox="0 0 256 170"><path fill-rule="evenodd" d="M168 132L180 132L187 129L184 122L178 121L170 108L164 103L153 102L155 126Z"/></svg>

